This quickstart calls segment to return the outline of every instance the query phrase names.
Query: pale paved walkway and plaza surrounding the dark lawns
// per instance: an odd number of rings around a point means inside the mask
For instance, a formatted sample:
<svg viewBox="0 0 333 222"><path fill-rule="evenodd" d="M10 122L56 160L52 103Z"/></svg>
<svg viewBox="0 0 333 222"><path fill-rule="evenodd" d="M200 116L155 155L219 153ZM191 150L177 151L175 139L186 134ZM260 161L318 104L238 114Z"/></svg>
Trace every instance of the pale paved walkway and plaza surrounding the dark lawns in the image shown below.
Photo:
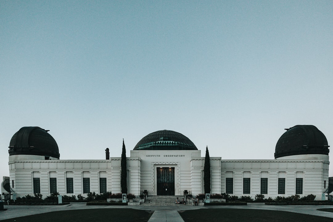
<svg viewBox="0 0 333 222"><path fill-rule="evenodd" d="M323 205L282 205L282 206L272 206L265 205L264 203L248 203L245 206L188 206L188 205L166 205L166 206L87 206L86 203L70 203L68 205L59 206L18 206L18 205L5 205L5 211L0 211L0 220L28 216L39 213L47 213L52 211L61 210L79 210L79 209L96 209L96 208L132 208L138 210L152 210L155 211L149 222L182 222L180 215L177 211L180 210L194 210L202 208L223 208L223 209L261 209L261 210L280 210L289 211L294 213L310 214L315 216L323 216L333 218L333 213L319 211L317 209L321 208L333 208L330 206Z"/></svg>

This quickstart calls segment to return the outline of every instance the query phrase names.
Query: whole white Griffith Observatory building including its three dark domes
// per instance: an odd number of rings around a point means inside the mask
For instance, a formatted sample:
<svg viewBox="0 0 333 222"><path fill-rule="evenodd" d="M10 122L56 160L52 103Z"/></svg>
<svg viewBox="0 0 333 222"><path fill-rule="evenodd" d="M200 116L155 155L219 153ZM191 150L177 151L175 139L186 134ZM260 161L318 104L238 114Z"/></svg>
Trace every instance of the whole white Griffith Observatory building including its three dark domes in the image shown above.
<svg viewBox="0 0 333 222"><path fill-rule="evenodd" d="M222 160L210 157L211 193L265 197L328 192L329 149L325 135L312 125L287 129L275 147L275 159ZM54 192L87 195L120 193L121 158L61 160L54 138L40 127L22 127L9 145L9 177L2 193L16 196ZM181 133L160 130L143 137L127 157L128 193L182 195L203 193L205 158ZM9 183L9 184L8 184Z"/></svg>

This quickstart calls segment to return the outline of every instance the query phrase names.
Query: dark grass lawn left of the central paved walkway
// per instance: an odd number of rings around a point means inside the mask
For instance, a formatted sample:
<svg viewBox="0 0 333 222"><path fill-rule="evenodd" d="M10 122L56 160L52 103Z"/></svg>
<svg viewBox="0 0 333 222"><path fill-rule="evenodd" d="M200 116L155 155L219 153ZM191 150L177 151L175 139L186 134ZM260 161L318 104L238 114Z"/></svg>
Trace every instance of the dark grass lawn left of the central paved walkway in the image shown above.
<svg viewBox="0 0 333 222"><path fill-rule="evenodd" d="M98 221L140 221L147 222L153 211L135 209L87 209L87 210L63 210L49 213L35 214L25 217L11 218L5 221L16 222L98 222Z"/></svg>

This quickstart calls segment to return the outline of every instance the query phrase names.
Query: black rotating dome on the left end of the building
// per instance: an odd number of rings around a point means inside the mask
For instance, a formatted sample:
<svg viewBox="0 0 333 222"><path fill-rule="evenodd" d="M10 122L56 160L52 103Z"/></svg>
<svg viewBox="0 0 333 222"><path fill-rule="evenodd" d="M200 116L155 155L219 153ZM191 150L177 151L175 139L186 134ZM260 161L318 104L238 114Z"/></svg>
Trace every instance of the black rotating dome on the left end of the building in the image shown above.
<svg viewBox="0 0 333 222"><path fill-rule="evenodd" d="M25 126L17 131L9 143L9 155L38 155L60 157L56 140L49 130L37 126Z"/></svg>

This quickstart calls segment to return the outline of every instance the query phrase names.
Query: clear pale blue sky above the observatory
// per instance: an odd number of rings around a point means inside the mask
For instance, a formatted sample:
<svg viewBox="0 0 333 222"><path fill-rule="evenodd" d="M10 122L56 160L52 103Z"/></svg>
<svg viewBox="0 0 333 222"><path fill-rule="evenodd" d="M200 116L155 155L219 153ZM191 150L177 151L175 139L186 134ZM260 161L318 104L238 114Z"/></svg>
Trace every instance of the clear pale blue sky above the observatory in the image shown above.
<svg viewBox="0 0 333 222"><path fill-rule="evenodd" d="M297 124L333 144L333 1L0 0L0 21L0 176L23 126L61 159L163 129L222 159L274 159Z"/></svg>

